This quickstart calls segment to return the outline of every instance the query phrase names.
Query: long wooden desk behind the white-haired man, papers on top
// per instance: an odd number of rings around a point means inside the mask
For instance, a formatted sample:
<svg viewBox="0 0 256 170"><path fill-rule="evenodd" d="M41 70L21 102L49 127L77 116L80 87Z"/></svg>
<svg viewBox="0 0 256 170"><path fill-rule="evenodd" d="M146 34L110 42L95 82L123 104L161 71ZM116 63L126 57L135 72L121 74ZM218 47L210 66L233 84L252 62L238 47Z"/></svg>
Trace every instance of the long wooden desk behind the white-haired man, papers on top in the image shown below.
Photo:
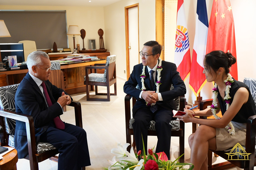
<svg viewBox="0 0 256 170"><path fill-rule="evenodd" d="M67 54L66 54L67 55ZM52 73L49 77L49 81L52 82L55 86L65 89L65 91L70 94L77 94L86 92L86 86L84 85L85 77L85 67L91 66L94 64L105 64L106 60L97 60L97 61L86 61L86 62L77 62L77 63L67 63L60 65L61 70L52 70ZM22 70L11 70L11 71L0 71L0 74L7 75L8 85L18 84L27 74L28 69ZM63 73L62 73L63 72ZM64 85L61 82L61 74L64 77ZM90 90L93 90L91 87Z"/></svg>

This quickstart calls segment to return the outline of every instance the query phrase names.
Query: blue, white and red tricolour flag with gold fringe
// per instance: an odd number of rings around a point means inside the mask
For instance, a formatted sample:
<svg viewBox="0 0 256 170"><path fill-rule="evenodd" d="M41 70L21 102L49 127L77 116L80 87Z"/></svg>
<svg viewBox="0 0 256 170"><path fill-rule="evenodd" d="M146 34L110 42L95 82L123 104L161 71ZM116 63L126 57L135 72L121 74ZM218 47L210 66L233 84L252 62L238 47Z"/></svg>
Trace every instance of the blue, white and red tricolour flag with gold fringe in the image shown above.
<svg viewBox="0 0 256 170"><path fill-rule="evenodd" d="M206 2L197 0L196 33L189 78L189 87L196 96L206 83L203 59L206 52L208 27Z"/></svg>

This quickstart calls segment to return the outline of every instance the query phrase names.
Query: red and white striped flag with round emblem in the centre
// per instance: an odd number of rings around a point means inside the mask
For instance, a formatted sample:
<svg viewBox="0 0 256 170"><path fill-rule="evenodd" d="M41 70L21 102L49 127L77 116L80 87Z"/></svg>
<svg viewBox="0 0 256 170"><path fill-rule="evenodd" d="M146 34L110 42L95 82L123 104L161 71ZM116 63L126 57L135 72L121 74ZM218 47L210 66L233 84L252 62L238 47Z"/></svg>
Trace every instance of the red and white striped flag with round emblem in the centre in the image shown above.
<svg viewBox="0 0 256 170"><path fill-rule="evenodd" d="M183 0L178 0L174 63L177 71L180 72L181 79L185 81L190 72L191 60Z"/></svg>

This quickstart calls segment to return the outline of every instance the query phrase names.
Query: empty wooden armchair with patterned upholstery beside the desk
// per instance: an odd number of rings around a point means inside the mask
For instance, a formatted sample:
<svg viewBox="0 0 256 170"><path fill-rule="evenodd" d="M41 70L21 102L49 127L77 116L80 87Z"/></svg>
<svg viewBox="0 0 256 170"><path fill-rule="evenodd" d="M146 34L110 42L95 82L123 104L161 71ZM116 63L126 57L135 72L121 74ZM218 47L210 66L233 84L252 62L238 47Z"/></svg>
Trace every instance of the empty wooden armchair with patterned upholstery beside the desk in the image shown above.
<svg viewBox="0 0 256 170"><path fill-rule="evenodd" d="M106 58L106 64L95 64L85 67L84 84L86 85L87 101L110 101L110 96L116 96L116 55ZM88 69L95 69L95 73L88 74ZM97 73L97 69L105 69L104 74ZM114 84L114 93L110 93L110 86ZM90 98L89 85L95 86L95 95L106 95L107 98ZM106 86L107 93L98 93L97 86Z"/></svg>

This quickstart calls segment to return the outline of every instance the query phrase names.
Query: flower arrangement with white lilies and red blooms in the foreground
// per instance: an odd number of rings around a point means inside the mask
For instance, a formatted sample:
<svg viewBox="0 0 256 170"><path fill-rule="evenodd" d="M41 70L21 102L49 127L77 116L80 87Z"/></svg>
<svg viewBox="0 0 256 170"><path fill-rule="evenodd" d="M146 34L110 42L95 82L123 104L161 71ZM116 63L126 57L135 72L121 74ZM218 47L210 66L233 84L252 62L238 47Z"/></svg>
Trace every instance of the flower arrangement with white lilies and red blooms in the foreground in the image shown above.
<svg viewBox="0 0 256 170"><path fill-rule="evenodd" d="M177 158L173 162L168 160L164 152L153 153L153 149L148 149L148 155L145 153L144 143L143 151L141 150L138 153L134 153L133 147L131 147L130 153L126 151L129 143L126 143L122 146L120 143L117 144L117 148L111 150L111 153L115 154L112 160L108 160L110 166L104 168L104 170L180 170L186 169L185 165L191 165L188 170L194 168L193 164L190 163L179 163ZM141 159L138 160L138 157Z"/></svg>

